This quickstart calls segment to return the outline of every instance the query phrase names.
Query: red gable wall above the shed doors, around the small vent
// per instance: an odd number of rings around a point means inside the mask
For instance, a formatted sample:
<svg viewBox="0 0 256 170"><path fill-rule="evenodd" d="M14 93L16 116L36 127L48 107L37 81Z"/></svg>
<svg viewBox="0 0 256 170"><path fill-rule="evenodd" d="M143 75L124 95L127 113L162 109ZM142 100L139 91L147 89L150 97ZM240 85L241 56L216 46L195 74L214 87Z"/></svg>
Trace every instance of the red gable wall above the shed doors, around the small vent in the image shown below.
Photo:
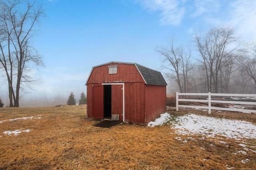
<svg viewBox="0 0 256 170"><path fill-rule="evenodd" d="M118 65L117 74L108 74L108 66ZM134 64L111 63L94 67L87 83L144 82Z"/></svg>

